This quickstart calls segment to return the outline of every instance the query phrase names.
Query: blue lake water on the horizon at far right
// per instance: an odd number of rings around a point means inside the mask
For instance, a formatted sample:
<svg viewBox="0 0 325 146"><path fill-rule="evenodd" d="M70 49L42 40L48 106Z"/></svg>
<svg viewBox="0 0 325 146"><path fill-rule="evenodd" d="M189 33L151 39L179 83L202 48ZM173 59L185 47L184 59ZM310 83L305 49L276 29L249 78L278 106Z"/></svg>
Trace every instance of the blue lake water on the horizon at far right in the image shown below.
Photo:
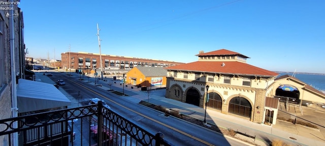
<svg viewBox="0 0 325 146"><path fill-rule="evenodd" d="M281 77L283 75L289 75L289 76L293 75L292 73L291 74L278 73L278 74L280 74L278 77ZM309 86L314 87L319 91L325 91L325 75L296 74L294 77L308 84Z"/></svg>

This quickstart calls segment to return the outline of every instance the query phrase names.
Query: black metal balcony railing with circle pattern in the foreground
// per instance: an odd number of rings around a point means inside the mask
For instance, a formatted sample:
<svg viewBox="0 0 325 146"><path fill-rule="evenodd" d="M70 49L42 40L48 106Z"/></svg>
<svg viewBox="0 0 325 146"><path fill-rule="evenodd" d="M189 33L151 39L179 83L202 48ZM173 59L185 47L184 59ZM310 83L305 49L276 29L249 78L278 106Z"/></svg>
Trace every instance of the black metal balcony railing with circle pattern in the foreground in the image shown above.
<svg viewBox="0 0 325 146"><path fill-rule="evenodd" d="M18 127L14 127L14 123ZM0 138L19 145L172 145L98 104L0 120Z"/></svg>

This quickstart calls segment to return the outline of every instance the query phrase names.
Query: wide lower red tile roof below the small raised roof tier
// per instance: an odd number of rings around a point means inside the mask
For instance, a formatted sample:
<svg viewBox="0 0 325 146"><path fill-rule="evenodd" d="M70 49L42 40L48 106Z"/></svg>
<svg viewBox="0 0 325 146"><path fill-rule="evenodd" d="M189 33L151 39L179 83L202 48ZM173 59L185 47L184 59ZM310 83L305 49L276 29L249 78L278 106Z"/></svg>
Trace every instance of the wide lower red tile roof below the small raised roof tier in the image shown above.
<svg viewBox="0 0 325 146"><path fill-rule="evenodd" d="M224 66L221 66L225 63ZM167 67L168 70L186 70L198 72L213 72L215 74L248 75L248 76L278 76L276 72L259 68L238 61L196 61Z"/></svg>

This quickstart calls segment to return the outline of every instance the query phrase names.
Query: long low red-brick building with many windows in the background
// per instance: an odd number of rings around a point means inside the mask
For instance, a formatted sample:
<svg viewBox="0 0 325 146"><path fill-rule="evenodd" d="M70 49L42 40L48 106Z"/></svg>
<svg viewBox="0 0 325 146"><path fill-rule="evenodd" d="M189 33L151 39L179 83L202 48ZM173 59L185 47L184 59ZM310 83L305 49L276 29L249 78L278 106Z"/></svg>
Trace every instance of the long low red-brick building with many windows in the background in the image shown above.
<svg viewBox="0 0 325 146"><path fill-rule="evenodd" d="M136 57L124 57L115 55L102 54L103 69L132 69L135 66L154 66L154 67L168 67L179 64L181 62L155 60ZM64 52L61 53L62 68L63 69L99 69L101 68L100 54L83 53L83 52ZM71 58L71 59L69 59Z"/></svg>

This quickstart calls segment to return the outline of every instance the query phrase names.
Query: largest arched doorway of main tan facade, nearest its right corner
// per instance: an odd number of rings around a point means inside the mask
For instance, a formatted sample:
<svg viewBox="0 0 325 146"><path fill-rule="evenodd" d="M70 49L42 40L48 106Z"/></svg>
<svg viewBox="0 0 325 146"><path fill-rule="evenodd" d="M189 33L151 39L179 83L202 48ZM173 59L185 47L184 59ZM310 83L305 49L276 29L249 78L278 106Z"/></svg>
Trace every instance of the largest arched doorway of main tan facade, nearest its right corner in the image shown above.
<svg viewBox="0 0 325 146"><path fill-rule="evenodd" d="M234 97L229 102L228 112L250 118L252 106L249 101L243 97Z"/></svg>

